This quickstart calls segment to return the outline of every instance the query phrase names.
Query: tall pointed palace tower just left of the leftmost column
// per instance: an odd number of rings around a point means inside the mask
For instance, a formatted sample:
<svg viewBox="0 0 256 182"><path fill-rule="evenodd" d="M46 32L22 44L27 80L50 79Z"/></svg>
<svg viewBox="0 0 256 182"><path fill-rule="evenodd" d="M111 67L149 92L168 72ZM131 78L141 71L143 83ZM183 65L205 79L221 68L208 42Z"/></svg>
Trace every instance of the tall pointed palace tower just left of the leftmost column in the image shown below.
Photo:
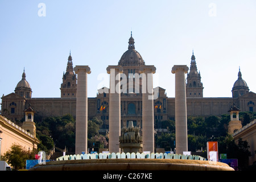
<svg viewBox="0 0 256 182"><path fill-rule="evenodd" d="M76 74L74 73L72 56L69 53L66 72L63 73L60 86L61 98L76 97Z"/></svg>

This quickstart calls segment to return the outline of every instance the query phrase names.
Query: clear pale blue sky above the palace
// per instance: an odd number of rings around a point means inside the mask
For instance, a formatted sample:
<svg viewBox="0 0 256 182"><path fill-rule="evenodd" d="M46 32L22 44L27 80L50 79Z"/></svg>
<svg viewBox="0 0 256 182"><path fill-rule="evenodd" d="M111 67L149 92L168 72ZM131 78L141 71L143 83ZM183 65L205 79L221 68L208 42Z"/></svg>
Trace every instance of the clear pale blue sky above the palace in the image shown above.
<svg viewBox="0 0 256 182"><path fill-rule="evenodd" d="M46 16L39 16L39 3ZM25 68L32 97L60 97L69 50L73 65L89 65L88 97L96 97L108 65L135 49L155 65L158 83L175 97L174 65L190 65L192 50L204 97L232 97L238 69L256 92L256 1L0 1L0 94L14 92ZM107 86L107 85L106 85Z"/></svg>

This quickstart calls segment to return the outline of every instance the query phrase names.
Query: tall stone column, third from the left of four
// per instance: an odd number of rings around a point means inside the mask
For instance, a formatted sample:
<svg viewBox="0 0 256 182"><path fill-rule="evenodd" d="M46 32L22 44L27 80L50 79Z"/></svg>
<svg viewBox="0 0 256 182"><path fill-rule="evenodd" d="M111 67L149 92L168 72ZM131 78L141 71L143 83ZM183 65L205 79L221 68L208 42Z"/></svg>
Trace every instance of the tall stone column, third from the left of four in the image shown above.
<svg viewBox="0 0 256 182"><path fill-rule="evenodd" d="M142 77L142 143L143 151L154 152L154 92L153 76L156 68L152 65L141 67Z"/></svg>

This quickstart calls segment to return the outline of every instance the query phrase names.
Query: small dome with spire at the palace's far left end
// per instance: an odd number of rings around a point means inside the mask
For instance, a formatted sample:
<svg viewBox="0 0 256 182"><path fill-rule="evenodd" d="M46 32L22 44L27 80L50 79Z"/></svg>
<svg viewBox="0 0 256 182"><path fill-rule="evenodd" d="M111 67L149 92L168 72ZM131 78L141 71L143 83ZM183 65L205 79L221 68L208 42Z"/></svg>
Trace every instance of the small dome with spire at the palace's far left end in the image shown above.
<svg viewBox="0 0 256 182"><path fill-rule="evenodd" d="M31 98L32 89L30 87L30 84L26 80L26 73L25 69L22 74L22 80L20 80L14 90L16 94L19 96L25 97L25 98Z"/></svg>

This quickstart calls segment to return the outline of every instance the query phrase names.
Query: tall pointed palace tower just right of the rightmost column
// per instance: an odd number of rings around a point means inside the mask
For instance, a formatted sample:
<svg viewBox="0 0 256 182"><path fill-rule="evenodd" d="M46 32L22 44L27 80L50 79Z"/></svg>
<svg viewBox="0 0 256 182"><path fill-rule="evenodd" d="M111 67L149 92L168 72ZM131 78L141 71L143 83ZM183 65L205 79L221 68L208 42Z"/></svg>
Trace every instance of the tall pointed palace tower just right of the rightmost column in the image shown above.
<svg viewBox="0 0 256 182"><path fill-rule="evenodd" d="M200 72L197 72L196 57L191 56L191 65L187 76L187 97L203 97L203 83L201 82Z"/></svg>

